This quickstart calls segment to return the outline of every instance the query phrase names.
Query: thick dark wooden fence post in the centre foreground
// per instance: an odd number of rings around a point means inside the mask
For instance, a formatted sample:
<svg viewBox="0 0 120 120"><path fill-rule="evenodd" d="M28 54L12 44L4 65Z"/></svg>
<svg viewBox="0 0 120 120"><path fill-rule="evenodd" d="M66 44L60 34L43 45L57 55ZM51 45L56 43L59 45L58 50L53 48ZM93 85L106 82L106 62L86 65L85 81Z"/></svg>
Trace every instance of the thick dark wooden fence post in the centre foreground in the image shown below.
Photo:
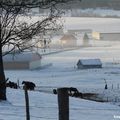
<svg viewBox="0 0 120 120"><path fill-rule="evenodd" d="M58 88L59 120L69 120L68 88Z"/></svg>

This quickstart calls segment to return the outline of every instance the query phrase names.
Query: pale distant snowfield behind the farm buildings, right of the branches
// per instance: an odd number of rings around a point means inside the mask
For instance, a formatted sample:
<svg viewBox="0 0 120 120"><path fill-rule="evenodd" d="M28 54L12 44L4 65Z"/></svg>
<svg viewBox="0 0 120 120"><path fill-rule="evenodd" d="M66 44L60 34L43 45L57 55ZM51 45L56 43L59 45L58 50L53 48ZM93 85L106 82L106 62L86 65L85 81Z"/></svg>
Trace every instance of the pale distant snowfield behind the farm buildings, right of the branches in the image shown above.
<svg viewBox="0 0 120 120"><path fill-rule="evenodd" d="M65 17L65 30L92 29L98 32L120 32L119 18Z"/></svg>

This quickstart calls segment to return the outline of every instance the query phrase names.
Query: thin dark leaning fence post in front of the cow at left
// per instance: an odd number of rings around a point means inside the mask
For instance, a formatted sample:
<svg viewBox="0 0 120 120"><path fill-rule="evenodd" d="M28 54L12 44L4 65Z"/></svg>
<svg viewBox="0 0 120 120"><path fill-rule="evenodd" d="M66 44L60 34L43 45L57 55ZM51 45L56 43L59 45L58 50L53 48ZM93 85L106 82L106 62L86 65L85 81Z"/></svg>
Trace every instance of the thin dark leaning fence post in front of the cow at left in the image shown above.
<svg viewBox="0 0 120 120"><path fill-rule="evenodd" d="M24 91L25 91L25 104L26 104L26 120L30 120L29 96L28 96L28 90L25 85L24 85Z"/></svg>

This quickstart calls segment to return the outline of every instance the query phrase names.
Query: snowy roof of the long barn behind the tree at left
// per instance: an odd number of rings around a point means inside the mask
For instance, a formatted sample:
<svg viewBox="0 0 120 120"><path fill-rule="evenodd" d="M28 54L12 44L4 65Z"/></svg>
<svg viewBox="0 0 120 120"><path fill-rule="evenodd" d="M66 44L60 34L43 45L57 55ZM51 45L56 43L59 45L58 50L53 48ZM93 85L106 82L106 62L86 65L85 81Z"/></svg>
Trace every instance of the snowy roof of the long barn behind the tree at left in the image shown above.
<svg viewBox="0 0 120 120"><path fill-rule="evenodd" d="M8 54L3 57L4 62L30 62L40 59L41 55L32 52L16 53L15 55Z"/></svg>

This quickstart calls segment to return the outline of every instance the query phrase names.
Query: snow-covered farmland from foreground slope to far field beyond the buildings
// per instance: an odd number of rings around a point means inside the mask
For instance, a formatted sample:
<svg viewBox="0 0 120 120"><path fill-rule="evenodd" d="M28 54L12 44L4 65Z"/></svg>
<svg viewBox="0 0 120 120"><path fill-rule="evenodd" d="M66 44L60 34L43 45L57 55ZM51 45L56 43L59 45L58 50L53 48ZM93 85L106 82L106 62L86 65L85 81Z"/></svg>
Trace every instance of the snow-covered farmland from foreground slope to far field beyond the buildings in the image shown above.
<svg viewBox="0 0 120 120"><path fill-rule="evenodd" d="M76 20L75 20L76 19ZM81 22L82 20L82 22ZM67 19L66 28L78 27L94 30L119 31L119 19L72 18ZM75 22L76 21L76 22ZM96 22L95 22L96 21ZM107 21L107 23L106 23ZM72 24L75 23L75 24ZM78 24L78 25L77 25ZM103 27L101 26L103 25ZM72 26L72 27L71 27ZM82 92L104 93L110 99L120 98L120 43L94 43L96 47L80 48L43 56L43 60L52 66L41 70L6 70L11 81L33 81L40 91L29 92L31 120L58 120L57 96L53 88L76 87ZM102 69L77 70L80 58L100 58ZM106 79L108 90L104 90ZM112 89L113 85L113 89ZM8 101L0 102L0 120L25 120L25 100L23 90L7 89ZM119 120L119 101L100 103L70 97L70 120Z"/></svg>

